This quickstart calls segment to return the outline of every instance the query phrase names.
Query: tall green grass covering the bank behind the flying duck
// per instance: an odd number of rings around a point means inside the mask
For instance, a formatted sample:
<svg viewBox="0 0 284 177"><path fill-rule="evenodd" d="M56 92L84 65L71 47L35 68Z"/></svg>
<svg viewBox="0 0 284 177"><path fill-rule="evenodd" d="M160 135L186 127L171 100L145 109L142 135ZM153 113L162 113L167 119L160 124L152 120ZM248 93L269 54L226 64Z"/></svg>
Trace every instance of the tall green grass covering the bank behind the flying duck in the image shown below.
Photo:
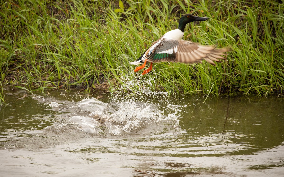
<svg viewBox="0 0 284 177"><path fill-rule="evenodd" d="M176 94L281 94L284 3L279 2L6 1L0 6L0 79L30 92L104 81L112 89L126 78L150 78L153 89ZM176 29L185 13L210 20L187 25L183 39L229 46L226 61L217 67L205 61L158 63L147 75L133 73L129 61Z"/></svg>

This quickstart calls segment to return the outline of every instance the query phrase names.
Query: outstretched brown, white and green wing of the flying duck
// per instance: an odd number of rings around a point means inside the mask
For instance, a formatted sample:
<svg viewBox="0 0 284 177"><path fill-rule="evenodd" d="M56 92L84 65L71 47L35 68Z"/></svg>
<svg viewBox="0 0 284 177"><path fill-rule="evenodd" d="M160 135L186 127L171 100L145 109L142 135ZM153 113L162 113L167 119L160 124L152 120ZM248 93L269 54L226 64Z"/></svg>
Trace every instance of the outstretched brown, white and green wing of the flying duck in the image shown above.
<svg viewBox="0 0 284 177"><path fill-rule="evenodd" d="M158 42L157 42L158 43ZM145 59L152 63L161 61L181 62L181 63L201 63L207 61L211 65L216 65L214 61L221 62L219 59L225 59L220 55L229 51L227 48L217 49L214 46L199 45L194 42L185 40L168 40L159 41L159 44L153 48L152 45L146 52Z"/></svg>

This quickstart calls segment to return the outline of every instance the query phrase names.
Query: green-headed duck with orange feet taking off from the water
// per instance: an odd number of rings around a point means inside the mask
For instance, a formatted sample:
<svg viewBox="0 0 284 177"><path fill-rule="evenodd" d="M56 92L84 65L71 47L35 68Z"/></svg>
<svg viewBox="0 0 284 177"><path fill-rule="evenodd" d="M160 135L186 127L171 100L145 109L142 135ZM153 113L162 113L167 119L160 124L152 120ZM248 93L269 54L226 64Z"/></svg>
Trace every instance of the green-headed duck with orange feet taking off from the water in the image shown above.
<svg viewBox="0 0 284 177"><path fill-rule="evenodd" d="M184 14L179 19L178 28L168 31L160 39L152 43L152 45L135 61L130 62L131 65L139 65L134 72L145 68L146 63L150 63L150 67L142 72L142 75L153 69L153 63L162 61L180 62L180 63L202 63L207 61L211 65L216 66L216 62L222 62L219 59L225 59L223 56L228 52L228 48L216 48L212 45L200 45L195 42L181 40L184 35L185 26L190 22L205 21L207 17L198 17L192 14Z"/></svg>

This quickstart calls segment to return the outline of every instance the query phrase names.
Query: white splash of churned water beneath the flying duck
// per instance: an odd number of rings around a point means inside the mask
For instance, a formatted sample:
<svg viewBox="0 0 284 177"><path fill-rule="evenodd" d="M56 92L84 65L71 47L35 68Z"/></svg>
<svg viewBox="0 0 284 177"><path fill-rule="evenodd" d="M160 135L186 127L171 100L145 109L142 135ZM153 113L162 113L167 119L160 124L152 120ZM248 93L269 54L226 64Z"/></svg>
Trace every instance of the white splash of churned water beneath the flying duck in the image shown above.
<svg viewBox="0 0 284 177"><path fill-rule="evenodd" d="M45 129L75 127L84 133L110 137L160 133L165 128L178 129L179 112L183 106L170 103L167 92L151 91L146 87L151 87L151 80L126 80L119 89L112 91L109 103L95 98L69 103L69 106L65 105L69 120ZM134 94L128 93L136 86L139 89L134 90ZM54 101L48 105L62 110L62 105ZM73 110L72 113L70 110Z"/></svg>

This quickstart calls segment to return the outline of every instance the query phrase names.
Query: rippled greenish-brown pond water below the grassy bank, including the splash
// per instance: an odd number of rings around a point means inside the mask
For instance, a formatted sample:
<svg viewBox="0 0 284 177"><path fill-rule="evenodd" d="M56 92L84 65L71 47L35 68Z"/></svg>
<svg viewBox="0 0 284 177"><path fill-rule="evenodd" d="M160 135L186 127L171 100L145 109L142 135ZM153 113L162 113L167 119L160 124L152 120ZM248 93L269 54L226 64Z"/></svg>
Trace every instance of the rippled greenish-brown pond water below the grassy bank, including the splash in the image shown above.
<svg viewBox="0 0 284 177"><path fill-rule="evenodd" d="M5 88L0 176L283 176L284 97Z"/></svg>

